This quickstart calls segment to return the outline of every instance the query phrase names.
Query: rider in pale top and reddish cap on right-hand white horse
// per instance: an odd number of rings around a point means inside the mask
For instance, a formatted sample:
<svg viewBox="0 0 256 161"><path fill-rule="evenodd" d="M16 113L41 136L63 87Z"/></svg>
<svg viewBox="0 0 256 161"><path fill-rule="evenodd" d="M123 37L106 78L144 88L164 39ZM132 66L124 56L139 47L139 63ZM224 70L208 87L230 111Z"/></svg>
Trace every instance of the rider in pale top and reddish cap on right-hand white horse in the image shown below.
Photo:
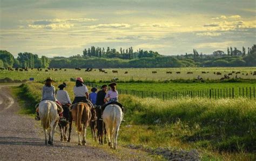
<svg viewBox="0 0 256 161"><path fill-rule="evenodd" d="M121 103L118 102L118 92L116 90L116 86L117 86L117 83L113 82L113 83L110 83L109 84L109 87L111 88L107 94L105 95L105 98L104 98L104 102L106 104L104 104L102 106L102 111L104 111L105 107L109 104L117 104L123 111L124 113L124 107ZM123 120L125 121L125 120Z"/></svg>

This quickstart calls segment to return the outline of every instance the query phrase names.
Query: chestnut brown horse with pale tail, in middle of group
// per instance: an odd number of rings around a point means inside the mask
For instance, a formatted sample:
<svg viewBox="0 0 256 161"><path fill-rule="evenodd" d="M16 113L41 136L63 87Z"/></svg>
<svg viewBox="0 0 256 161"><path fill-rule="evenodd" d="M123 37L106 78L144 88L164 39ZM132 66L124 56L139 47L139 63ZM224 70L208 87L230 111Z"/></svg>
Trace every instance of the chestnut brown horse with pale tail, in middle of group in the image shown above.
<svg viewBox="0 0 256 161"><path fill-rule="evenodd" d="M83 141L82 144L85 145L86 141L86 128L89 126L89 122L91 119L91 105L90 103L84 103L84 102L78 102L75 104L72 104L71 109L71 115L73 118L73 121L75 121L76 127L77 127L77 134L78 134L78 145L81 145L80 141L80 134L83 135ZM83 124L83 126L82 126ZM72 122L70 124L70 130L69 130L69 139L70 141L70 133L71 133L71 127Z"/></svg>

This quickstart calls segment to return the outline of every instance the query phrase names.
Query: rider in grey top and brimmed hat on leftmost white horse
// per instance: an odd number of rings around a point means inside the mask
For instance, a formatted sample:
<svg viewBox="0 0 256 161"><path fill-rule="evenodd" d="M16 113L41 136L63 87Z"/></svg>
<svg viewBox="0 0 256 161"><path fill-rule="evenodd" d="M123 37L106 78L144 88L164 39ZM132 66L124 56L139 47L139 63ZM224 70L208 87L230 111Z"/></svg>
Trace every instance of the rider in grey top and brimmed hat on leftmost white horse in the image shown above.
<svg viewBox="0 0 256 161"><path fill-rule="evenodd" d="M49 101L53 101L56 103L58 109L62 109L62 104L56 99L55 97L55 87L52 86L52 79L47 78L45 80L45 85L42 89L42 100L41 101L45 101L45 100L49 100ZM38 113L38 107L36 109L36 114L37 116L35 117L35 120L39 121L40 117L39 117L39 113ZM59 113L60 116L60 121L63 121L63 114Z"/></svg>

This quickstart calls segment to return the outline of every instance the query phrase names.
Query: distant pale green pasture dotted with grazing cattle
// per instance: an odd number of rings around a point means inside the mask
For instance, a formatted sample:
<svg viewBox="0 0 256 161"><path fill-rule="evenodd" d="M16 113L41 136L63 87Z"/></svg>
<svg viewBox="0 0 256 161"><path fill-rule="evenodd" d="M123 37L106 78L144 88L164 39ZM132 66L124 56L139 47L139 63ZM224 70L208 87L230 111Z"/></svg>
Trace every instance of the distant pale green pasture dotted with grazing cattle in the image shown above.
<svg viewBox="0 0 256 161"><path fill-rule="evenodd" d="M237 74L242 79L256 79L256 75L251 73L256 71L256 67L242 67L242 68L119 68L119 69L104 69L106 73L99 72L98 69L93 69L91 72L85 72L85 69L80 71L75 69L62 69L61 71L45 72L43 69L41 72L37 69L29 69L28 72L19 71L0 71L1 78L11 78L19 80L28 80L29 78L35 78L36 81L43 81L45 78L51 76L56 81L68 81L70 78L83 77L87 81L111 81L114 77L119 81L168 81L168 80L193 80L200 75L205 80L220 80L224 74L232 73L232 71L240 72ZM118 71L118 73L112 73L112 70ZM152 71L157 73L152 74ZM128 72L127 74L124 74ZM166 72L172 72L172 74L166 74ZM180 74L176 74L180 72ZM193 72L193 74L187 74L187 72ZM202 74L206 72L206 74ZM208 72L208 73L207 73ZM221 75L216 75L213 72L221 72ZM248 75L246 75L248 73ZM236 74L230 75L234 78Z"/></svg>

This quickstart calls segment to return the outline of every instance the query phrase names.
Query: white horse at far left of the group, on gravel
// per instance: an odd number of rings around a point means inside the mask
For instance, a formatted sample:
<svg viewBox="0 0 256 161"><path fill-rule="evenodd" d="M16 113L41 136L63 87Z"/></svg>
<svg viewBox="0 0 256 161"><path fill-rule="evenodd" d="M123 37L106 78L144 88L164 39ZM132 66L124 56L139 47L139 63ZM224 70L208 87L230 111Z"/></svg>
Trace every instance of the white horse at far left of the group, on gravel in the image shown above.
<svg viewBox="0 0 256 161"><path fill-rule="evenodd" d="M49 135L48 144L53 145L53 136L59 121L57 105L53 101L42 101L39 103L38 110L41 124L44 129L45 145L47 145L46 132L48 132Z"/></svg>

